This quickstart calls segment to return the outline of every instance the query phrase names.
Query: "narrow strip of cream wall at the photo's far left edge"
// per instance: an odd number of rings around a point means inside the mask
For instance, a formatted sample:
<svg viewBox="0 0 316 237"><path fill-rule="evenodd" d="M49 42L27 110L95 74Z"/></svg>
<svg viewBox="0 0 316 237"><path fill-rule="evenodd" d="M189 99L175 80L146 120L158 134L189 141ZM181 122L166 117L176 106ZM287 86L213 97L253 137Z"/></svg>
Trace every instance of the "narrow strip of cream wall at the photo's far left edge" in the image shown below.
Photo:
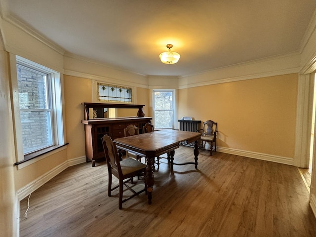
<svg viewBox="0 0 316 237"><path fill-rule="evenodd" d="M0 34L0 236L17 236L18 201L14 188L14 142L10 110L8 53Z"/></svg>

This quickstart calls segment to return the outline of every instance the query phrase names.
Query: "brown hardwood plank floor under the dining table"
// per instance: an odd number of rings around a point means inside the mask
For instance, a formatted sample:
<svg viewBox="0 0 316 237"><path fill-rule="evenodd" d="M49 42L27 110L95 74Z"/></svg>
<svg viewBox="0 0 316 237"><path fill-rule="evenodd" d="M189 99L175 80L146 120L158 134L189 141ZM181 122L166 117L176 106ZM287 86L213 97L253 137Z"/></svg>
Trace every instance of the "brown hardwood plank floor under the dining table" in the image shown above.
<svg viewBox="0 0 316 237"><path fill-rule="evenodd" d="M192 157L192 148L182 146L175 162ZM121 210L118 191L107 196L106 163L67 168L31 195L27 219L27 198L20 202L20 236L316 236L309 193L296 167L200 150L198 170L177 165L171 173L160 160L153 203L143 193ZM142 180L137 185L142 188Z"/></svg>

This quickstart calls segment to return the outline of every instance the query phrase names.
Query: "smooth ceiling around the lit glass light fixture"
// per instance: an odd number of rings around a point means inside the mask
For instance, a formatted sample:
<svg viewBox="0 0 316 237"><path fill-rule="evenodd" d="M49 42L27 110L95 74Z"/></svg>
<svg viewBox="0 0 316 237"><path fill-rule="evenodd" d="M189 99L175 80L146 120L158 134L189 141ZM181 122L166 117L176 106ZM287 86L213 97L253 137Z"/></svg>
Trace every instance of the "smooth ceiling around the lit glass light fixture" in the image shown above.
<svg viewBox="0 0 316 237"><path fill-rule="evenodd" d="M316 9L316 0L1 1L4 17L67 52L160 76L300 52ZM167 43L181 55L177 64L159 60Z"/></svg>

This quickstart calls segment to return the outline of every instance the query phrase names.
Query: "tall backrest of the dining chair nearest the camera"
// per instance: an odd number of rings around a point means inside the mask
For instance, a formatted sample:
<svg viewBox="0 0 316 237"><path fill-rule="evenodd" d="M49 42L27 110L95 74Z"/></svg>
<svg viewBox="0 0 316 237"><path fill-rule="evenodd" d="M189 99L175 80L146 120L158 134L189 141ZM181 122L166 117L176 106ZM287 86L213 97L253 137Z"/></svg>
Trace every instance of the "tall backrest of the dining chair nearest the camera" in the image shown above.
<svg viewBox="0 0 316 237"><path fill-rule="evenodd" d="M112 141L109 135L104 135L101 139L102 139L104 155L107 160L109 172L112 173L112 170L113 170L114 173L118 175L121 174L122 171L121 171L121 167L119 163L117 146Z"/></svg>

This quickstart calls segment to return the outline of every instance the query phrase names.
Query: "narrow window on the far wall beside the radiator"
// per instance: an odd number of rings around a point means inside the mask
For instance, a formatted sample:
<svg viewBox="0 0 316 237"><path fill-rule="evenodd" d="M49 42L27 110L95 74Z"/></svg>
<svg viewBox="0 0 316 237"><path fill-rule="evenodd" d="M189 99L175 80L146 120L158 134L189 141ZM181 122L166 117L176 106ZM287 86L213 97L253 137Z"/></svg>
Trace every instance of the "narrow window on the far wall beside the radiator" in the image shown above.
<svg viewBox="0 0 316 237"><path fill-rule="evenodd" d="M175 91L153 90L155 129L175 128Z"/></svg>

